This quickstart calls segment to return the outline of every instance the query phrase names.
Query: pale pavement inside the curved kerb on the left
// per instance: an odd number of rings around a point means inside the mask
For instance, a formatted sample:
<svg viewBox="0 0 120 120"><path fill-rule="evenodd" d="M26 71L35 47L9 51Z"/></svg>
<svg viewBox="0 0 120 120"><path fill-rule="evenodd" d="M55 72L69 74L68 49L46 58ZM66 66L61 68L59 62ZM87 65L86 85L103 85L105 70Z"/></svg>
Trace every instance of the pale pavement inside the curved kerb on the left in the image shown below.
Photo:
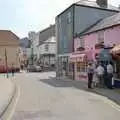
<svg viewBox="0 0 120 120"><path fill-rule="evenodd" d="M0 120L6 112L10 102L15 93L15 84L10 79L6 78L6 75L0 75Z"/></svg>

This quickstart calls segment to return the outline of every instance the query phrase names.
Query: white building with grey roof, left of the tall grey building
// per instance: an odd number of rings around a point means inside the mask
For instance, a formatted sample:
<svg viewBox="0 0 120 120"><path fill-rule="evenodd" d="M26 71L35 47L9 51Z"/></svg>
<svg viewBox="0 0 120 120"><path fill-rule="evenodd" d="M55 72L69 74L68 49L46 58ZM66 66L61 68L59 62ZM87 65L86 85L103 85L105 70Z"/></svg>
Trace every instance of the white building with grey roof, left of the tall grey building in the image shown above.
<svg viewBox="0 0 120 120"><path fill-rule="evenodd" d="M44 66L55 65L55 25L50 25L39 32L29 32L29 39L33 48L34 63L41 63Z"/></svg>

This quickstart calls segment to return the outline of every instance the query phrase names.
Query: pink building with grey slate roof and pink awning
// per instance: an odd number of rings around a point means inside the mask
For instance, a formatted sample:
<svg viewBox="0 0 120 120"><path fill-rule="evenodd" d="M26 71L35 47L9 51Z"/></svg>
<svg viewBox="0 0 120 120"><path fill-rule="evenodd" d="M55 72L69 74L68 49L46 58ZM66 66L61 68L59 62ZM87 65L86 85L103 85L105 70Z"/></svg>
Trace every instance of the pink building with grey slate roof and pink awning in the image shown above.
<svg viewBox="0 0 120 120"><path fill-rule="evenodd" d="M120 13L104 20L100 20L82 35L74 38L74 53L70 61L74 65L74 79L87 78L87 63L96 61L97 55L105 47L113 48L120 44ZM120 53L117 53L117 55ZM119 55L118 55L119 56ZM118 58L118 57L117 57ZM114 58L113 58L114 59ZM117 68L120 68L120 59L114 59ZM117 78L120 78L120 70L117 70Z"/></svg>

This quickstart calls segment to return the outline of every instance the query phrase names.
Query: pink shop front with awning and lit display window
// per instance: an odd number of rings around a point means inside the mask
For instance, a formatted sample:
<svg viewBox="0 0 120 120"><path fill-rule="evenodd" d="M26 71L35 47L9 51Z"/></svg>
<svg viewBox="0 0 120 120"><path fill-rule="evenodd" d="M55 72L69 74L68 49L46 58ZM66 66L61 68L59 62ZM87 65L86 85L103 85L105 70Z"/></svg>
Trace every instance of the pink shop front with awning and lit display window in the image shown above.
<svg viewBox="0 0 120 120"><path fill-rule="evenodd" d="M93 60L92 52L75 52L70 55L69 63L74 66L74 79L87 80L88 62Z"/></svg>

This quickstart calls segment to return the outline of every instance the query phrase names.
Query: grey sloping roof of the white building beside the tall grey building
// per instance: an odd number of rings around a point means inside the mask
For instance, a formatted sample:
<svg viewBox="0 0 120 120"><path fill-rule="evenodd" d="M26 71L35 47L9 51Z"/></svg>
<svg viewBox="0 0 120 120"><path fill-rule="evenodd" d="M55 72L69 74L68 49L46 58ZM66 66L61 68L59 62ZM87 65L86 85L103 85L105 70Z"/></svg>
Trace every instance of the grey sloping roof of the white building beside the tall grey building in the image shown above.
<svg viewBox="0 0 120 120"><path fill-rule="evenodd" d="M55 36L55 25L50 25L48 28L39 32L39 45L52 36Z"/></svg>

